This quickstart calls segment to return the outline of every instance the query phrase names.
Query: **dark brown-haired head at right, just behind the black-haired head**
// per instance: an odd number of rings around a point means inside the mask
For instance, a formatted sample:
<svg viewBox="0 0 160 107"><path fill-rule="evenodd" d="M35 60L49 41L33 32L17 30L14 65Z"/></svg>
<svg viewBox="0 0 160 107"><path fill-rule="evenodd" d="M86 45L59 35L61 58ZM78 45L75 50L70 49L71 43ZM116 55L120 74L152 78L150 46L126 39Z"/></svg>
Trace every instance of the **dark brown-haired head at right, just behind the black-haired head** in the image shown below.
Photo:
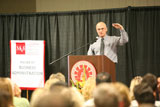
<svg viewBox="0 0 160 107"><path fill-rule="evenodd" d="M143 76L142 83L147 83L153 91L157 89L157 77L151 73Z"/></svg>

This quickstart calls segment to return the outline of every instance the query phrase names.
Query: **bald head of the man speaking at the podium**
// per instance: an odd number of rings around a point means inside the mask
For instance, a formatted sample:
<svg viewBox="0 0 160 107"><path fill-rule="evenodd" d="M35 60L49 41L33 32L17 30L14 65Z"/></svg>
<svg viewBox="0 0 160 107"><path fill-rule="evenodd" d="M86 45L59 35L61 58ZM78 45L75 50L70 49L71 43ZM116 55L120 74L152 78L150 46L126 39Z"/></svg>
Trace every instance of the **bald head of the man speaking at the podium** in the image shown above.
<svg viewBox="0 0 160 107"><path fill-rule="evenodd" d="M103 23L103 22L100 22L96 25L96 30L97 30L97 33L98 33L98 36L99 37L104 37L107 33L107 27L106 27L106 24Z"/></svg>

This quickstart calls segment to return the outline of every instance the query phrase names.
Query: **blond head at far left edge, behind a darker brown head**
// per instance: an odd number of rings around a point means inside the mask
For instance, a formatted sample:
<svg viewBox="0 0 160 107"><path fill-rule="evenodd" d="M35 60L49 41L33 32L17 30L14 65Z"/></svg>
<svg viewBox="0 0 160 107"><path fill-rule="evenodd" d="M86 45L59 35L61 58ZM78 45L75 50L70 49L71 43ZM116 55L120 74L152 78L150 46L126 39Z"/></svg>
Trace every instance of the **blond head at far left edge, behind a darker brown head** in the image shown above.
<svg viewBox="0 0 160 107"><path fill-rule="evenodd" d="M11 101L13 105L13 89L12 89L11 80L9 78L0 77L0 91L9 92L9 94L12 96Z"/></svg>

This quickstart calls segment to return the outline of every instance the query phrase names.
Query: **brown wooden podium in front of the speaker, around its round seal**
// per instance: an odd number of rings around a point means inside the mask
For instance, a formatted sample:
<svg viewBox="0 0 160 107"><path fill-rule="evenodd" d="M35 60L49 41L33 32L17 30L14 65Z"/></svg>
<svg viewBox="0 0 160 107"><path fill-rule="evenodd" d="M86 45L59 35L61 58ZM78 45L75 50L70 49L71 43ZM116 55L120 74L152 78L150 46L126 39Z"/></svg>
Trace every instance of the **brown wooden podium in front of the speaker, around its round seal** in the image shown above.
<svg viewBox="0 0 160 107"><path fill-rule="evenodd" d="M105 55L74 55L68 56L68 83L70 84L71 70L75 63L78 61L88 61L96 69L96 73L108 72L111 74L112 81L116 81L115 63L108 59Z"/></svg>

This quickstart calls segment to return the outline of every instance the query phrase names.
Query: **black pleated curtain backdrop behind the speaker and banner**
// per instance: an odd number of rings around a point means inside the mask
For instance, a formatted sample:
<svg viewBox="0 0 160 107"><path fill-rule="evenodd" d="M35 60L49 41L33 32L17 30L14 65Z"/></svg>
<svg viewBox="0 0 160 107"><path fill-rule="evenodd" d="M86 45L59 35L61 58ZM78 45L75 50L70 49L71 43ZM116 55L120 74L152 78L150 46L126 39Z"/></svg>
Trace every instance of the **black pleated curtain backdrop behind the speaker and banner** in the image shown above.
<svg viewBox="0 0 160 107"><path fill-rule="evenodd" d="M93 41L98 36L95 26L99 21L106 22L109 35L120 35L112 23L122 24L129 35L129 43L118 47L117 81L129 85L137 75L160 75L160 7L127 7L0 14L0 76L10 76L10 40L45 40L46 79L51 73L61 72L68 81L67 57L63 56ZM86 55L88 48L70 55Z"/></svg>

